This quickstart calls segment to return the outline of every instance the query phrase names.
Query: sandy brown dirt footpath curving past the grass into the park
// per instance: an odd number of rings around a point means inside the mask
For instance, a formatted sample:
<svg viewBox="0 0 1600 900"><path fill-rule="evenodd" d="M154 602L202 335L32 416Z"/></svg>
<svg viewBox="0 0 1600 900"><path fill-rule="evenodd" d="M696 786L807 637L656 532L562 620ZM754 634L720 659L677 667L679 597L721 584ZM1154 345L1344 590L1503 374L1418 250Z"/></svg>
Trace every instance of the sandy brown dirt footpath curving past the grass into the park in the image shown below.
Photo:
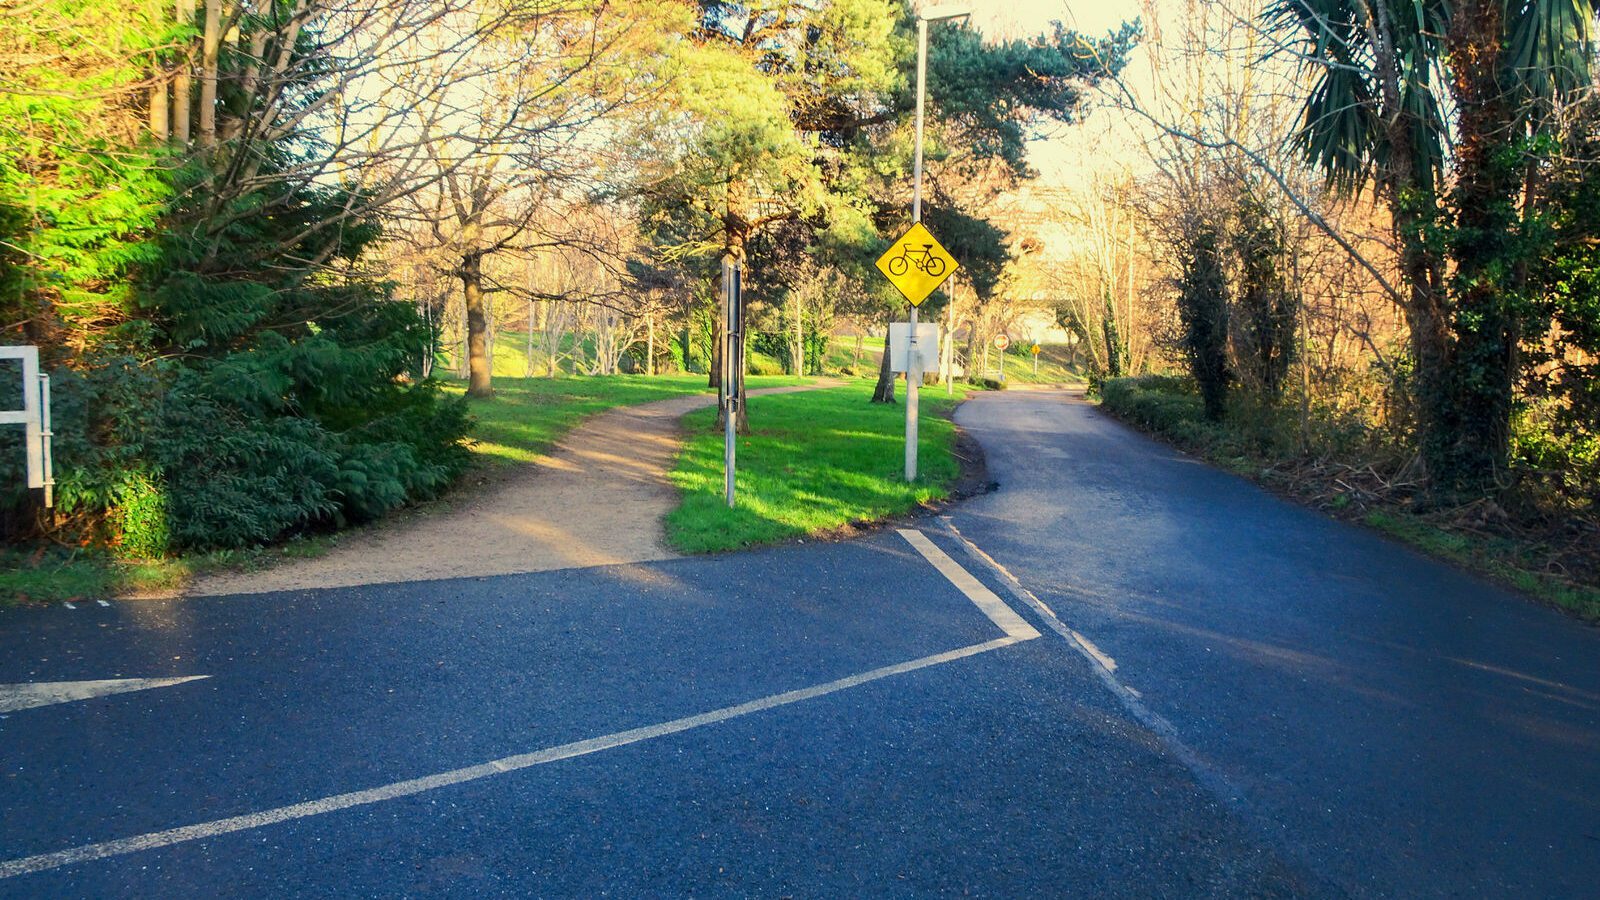
<svg viewBox="0 0 1600 900"><path fill-rule="evenodd" d="M568 432L547 456L454 508L352 535L315 559L206 575L184 593L256 594L672 559L678 554L667 548L661 520L677 504L667 472L678 450L678 420L714 402L694 396L608 410Z"/></svg>

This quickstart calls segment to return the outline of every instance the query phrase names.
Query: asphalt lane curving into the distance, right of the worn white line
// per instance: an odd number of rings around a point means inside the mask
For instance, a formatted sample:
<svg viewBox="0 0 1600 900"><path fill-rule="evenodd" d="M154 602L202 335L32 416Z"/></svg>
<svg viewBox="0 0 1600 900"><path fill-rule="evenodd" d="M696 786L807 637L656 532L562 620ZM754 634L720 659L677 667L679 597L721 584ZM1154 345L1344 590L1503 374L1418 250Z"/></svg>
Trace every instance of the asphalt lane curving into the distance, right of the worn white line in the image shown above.
<svg viewBox="0 0 1600 900"><path fill-rule="evenodd" d="M1600 629L1061 394L957 421L954 525L1115 660L1267 846L1355 895L1600 894Z"/></svg>

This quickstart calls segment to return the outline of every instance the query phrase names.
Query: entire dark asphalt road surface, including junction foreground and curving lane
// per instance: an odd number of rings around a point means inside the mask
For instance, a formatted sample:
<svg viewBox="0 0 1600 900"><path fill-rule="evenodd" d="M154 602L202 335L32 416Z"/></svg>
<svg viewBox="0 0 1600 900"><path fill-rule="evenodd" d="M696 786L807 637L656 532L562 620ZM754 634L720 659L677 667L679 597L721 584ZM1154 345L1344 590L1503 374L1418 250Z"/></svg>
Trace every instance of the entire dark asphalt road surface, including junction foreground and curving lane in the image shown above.
<svg viewBox="0 0 1600 900"><path fill-rule="evenodd" d="M0 612L0 685L206 676L0 713L0 895L1600 884L1600 633L1059 396L958 418L1002 487L931 556Z"/></svg>

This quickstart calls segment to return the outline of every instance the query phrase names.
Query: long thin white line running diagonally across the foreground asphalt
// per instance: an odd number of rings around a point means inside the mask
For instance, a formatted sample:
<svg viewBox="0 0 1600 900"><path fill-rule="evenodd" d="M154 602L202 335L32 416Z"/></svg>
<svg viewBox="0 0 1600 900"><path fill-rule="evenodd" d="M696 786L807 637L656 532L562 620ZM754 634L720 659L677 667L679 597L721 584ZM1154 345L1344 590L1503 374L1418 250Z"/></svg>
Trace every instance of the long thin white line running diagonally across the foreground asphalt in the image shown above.
<svg viewBox="0 0 1600 900"><path fill-rule="evenodd" d="M1034 636L1037 637L1038 633L1035 631ZM728 719L736 719L739 716L749 716L752 713L762 713L765 709L773 709L778 706L787 706L790 703L800 703L803 700L814 700L818 697L824 697L840 690L848 690L851 687L859 687L862 684L885 679L890 676L906 674L917 669L938 666L942 663L952 663L955 660L963 660L966 657L976 657L979 653L987 653L990 650L1010 647L1022 641L1026 641L1026 637L1011 637L1011 636L997 637L994 641L986 641L982 644L973 644L970 647L962 647L958 650L949 650L944 653L934 653L931 657L922 657L920 660L910 660L907 663L896 663L893 666L877 668L872 671L853 674L850 677L842 677L838 681L830 681L814 687L803 687L798 690L774 693L771 697L763 697L760 700L750 700L747 703L723 706L722 709L712 709L710 713L686 716L683 719L672 719L669 722L661 722L659 725L645 725L640 729L629 729L626 732L616 732L597 738L581 740L574 743L563 743L560 746L552 746L534 753L506 756L502 759L482 762L478 765L467 765L466 769L451 769L450 772L440 772L437 775L424 775L421 778L410 778L406 781L395 781L392 785L368 788L365 791L334 794L331 798L282 806L277 809L235 815L230 818L218 818L213 822L202 822L197 825L184 825L181 828L168 828L166 831L152 831L149 834L138 834L134 838L122 838L117 841L106 841L101 844L85 844L80 847L72 847L69 850L58 850L54 854L38 854L35 857L22 857L18 860L0 862L0 878L16 878L19 874L46 871L74 863L104 860L107 857L120 857L125 854L136 854L139 850L152 850L157 847L170 847L173 844L182 844L186 841L202 841L206 838L230 834L234 831L248 831L251 828L261 828L266 825L275 825L294 818L306 818L312 815L322 815L326 812L336 812L341 809L392 801L397 798L408 798L413 794L421 794L424 791L445 788L450 785L461 785L464 781L491 778L494 775L515 772L518 769L528 769L531 765L542 765L546 762L573 759L576 756L586 756L590 753L598 753L602 749L613 749L630 743L640 743L666 735L674 735L678 732L686 732L690 729L714 725L717 722L725 722Z"/></svg>

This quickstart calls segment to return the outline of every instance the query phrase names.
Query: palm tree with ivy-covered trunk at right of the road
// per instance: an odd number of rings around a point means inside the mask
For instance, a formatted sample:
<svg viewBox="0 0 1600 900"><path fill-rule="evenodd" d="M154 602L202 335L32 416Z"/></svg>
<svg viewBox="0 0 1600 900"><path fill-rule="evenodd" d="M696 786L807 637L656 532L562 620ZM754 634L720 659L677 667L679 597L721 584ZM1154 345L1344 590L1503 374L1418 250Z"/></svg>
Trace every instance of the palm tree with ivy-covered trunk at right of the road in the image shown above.
<svg viewBox="0 0 1600 900"><path fill-rule="evenodd" d="M1264 21L1306 64L1299 147L1392 215L1434 487L1488 487L1510 434L1530 139L1590 88L1594 3L1275 0Z"/></svg>

